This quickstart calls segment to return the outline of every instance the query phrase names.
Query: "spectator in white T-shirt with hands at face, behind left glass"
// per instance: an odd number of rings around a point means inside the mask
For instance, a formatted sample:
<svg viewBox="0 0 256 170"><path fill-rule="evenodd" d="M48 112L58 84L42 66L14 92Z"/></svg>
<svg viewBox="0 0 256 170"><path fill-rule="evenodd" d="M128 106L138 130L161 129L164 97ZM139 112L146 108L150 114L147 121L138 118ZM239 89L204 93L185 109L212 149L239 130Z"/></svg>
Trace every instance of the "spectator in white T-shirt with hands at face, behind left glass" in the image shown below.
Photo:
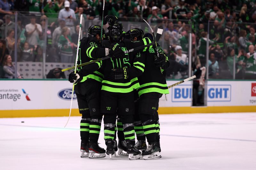
<svg viewBox="0 0 256 170"><path fill-rule="evenodd" d="M30 46L36 46L38 44L39 36L42 35L42 26L36 23L36 17L31 16L30 24L25 26L27 32L27 41ZM34 48L34 47L32 47Z"/></svg>

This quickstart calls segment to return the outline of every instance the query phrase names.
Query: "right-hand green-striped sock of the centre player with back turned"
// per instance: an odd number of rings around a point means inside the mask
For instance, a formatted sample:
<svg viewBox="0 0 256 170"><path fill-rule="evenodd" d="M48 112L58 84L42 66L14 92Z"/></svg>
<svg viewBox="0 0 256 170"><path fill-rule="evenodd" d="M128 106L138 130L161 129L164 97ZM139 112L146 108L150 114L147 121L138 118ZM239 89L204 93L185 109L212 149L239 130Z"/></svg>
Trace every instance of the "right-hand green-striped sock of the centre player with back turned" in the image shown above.
<svg viewBox="0 0 256 170"><path fill-rule="evenodd" d="M123 130L124 130L124 139L130 139L135 142L135 131L133 125L133 116L132 115L121 115Z"/></svg>

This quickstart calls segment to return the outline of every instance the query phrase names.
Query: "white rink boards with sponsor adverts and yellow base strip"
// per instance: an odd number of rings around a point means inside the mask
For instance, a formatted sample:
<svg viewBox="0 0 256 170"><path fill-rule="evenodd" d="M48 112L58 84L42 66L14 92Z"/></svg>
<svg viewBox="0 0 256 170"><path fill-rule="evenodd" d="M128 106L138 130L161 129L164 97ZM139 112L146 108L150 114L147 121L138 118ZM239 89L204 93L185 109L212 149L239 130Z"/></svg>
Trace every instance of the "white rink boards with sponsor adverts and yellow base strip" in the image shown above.
<svg viewBox="0 0 256 170"><path fill-rule="evenodd" d="M67 80L1 80L0 84L0 117L69 114L72 84ZM205 91L207 106L191 107L192 81L172 87L159 101L159 114L256 111L256 81L208 81ZM76 95L71 115L79 115Z"/></svg>

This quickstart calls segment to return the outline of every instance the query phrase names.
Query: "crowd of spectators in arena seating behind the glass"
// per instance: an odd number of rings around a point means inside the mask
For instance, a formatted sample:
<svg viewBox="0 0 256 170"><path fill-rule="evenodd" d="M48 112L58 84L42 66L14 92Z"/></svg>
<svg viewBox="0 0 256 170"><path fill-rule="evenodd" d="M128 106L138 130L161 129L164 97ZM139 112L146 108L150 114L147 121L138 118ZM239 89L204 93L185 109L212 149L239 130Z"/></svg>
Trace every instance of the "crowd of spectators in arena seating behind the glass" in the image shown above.
<svg viewBox="0 0 256 170"><path fill-rule="evenodd" d="M46 62L73 63L80 14L83 26L100 25L102 7L103 0L0 0L0 77L4 57L14 58L16 12L18 62L42 62L45 43ZM256 79L255 0L106 0L105 15L164 26L167 78L188 77L192 33L194 74L208 67L209 78Z"/></svg>

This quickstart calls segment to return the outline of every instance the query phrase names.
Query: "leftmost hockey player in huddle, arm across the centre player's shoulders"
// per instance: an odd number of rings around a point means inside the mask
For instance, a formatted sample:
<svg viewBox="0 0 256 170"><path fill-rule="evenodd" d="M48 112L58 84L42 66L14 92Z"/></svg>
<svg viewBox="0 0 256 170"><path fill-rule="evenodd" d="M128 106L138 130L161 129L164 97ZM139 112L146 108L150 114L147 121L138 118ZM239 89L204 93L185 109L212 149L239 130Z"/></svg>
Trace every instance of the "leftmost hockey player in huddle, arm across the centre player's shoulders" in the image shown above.
<svg viewBox="0 0 256 170"><path fill-rule="evenodd" d="M113 50L100 47L100 33L101 26L92 25L88 28L89 36L82 38L79 43L77 64L89 62L93 58L105 57L106 55L124 56L124 52L120 49ZM77 96L79 113L82 114L80 123L81 157L103 158L106 156L106 151L98 145L102 120L102 114L100 113L100 89L103 74L101 70L98 70L101 63L96 62L88 66L78 67L76 74L70 73L68 78L71 83L76 83L74 89Z"/></svg>

